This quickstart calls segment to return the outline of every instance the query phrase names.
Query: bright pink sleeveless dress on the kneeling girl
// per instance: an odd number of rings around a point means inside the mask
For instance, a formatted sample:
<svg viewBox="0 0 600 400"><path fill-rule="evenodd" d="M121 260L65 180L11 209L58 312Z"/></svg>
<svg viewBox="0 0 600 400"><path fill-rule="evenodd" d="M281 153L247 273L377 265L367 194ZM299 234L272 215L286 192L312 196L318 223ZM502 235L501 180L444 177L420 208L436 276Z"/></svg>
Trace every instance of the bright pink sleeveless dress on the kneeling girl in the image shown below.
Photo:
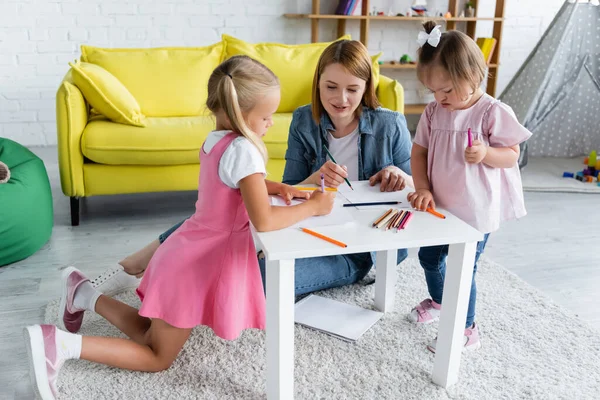
<svg viewBox="0 0 600 400"><path fill-rule="evenodd" d="M196 212L158 248L137 289L141 316L178 328L206 325L227 340L264 329L266 307L241 192L219 178L236 137L227 134L208 154L200 149Z"/></svg>

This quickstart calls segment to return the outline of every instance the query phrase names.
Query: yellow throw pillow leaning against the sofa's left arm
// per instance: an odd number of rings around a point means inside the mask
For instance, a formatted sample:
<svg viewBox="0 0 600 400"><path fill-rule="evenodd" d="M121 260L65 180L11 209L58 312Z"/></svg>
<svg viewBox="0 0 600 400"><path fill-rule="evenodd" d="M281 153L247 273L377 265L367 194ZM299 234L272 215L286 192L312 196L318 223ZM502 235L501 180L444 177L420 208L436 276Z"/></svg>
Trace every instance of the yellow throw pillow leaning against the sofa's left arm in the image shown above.
<svg viewBox="0 0 600 400"><path fill-rule="evenodd" d="M71 62L69 65L73 83L96 111L114 122L146 126L140 105L110 72L86 62Z"/></svg>

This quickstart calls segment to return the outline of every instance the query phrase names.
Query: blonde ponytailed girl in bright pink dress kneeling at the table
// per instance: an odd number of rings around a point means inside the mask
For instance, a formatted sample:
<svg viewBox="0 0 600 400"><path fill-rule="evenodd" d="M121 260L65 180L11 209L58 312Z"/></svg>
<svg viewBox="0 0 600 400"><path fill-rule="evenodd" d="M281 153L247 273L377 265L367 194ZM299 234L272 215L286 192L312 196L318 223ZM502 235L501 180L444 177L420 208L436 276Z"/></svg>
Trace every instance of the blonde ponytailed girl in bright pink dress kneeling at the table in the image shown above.
<svg viewBox="0 0 600 400"><path fill-rule="evenodd" d="M59 321L68 332L51 325L25 329L33 387L42 399L56 398L56 378L67 359L161 371L171 366L197 325L228 340L247 328L264 329L265 295L250 221L258 231L269 231L331 211L332 193L307 196L265 180L261 137L273 125L280 100L279 81L267 67L246 56L232 57L213 71L208 93L216 130L200 150L196 212L154 254L137 290L139 312L101 295L81 272L67 268ZM269 194L310 198L274 207ZM75 334L87 310L130 339Z"/></svg>

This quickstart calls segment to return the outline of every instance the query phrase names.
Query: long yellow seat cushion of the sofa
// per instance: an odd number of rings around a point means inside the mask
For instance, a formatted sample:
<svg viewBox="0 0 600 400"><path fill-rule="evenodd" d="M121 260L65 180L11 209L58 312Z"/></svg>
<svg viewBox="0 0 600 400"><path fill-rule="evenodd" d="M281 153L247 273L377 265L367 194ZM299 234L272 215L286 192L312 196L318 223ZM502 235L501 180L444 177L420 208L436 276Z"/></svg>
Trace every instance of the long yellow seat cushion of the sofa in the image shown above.
<svg viewBox="0 0 600 400"><path fill-rule="evenodd" d="M275 114L263 138L269 158L284 159L292 114ZM200 146L215 121L210 116L146 118L146 127L116 124L105 118L90 121L81 139L85 157L109 165L197 164Z"/></svg>

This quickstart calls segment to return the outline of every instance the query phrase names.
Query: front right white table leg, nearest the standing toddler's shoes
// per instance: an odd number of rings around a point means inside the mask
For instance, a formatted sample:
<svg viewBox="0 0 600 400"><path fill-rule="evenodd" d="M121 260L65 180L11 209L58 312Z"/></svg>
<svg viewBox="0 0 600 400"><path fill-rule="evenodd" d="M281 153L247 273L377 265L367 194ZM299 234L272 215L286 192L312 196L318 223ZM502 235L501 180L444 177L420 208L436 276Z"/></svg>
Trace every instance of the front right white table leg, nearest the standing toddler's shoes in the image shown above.
<svg viewBox="0 0 600 400"><path fill-rule="evenodd" d="M432 374L433 382L445 388L458 381L476 246L476 242L453 244L448 252Z"/></svg>

